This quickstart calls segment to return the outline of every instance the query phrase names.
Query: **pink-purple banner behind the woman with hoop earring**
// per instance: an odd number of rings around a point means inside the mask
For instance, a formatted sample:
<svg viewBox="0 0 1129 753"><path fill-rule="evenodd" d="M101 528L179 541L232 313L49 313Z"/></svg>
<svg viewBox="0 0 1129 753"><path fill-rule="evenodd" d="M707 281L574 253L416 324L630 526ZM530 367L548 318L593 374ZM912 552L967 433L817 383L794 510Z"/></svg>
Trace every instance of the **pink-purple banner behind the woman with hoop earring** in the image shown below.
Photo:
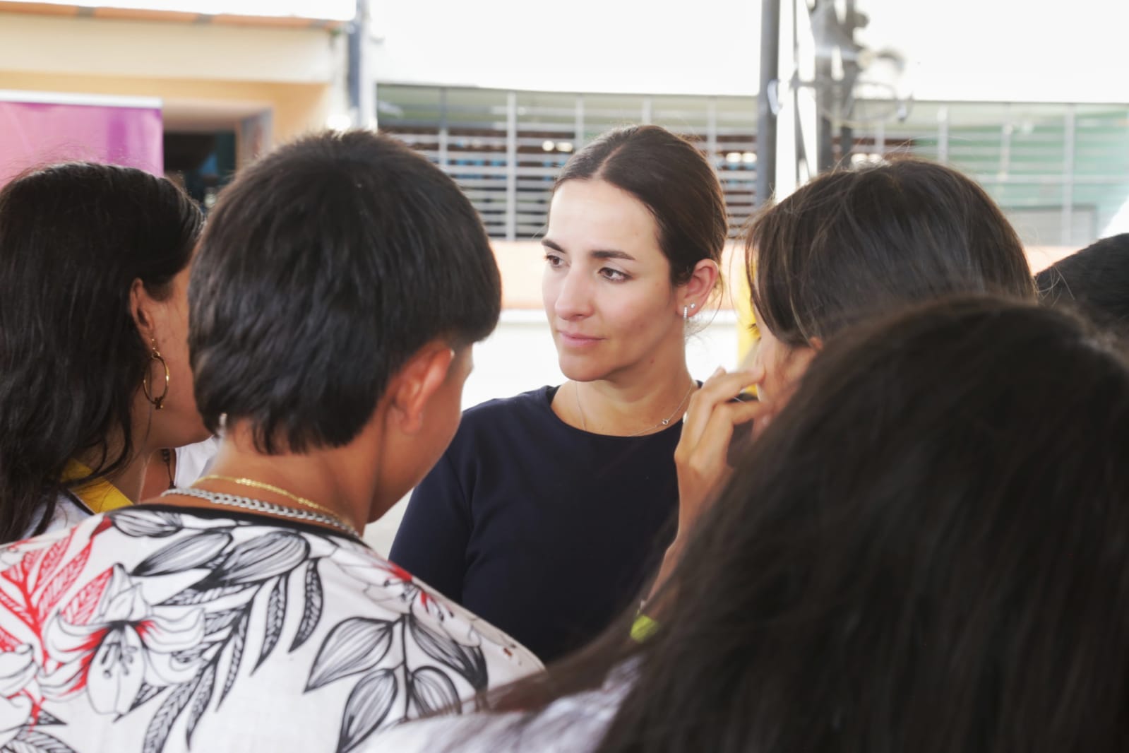
<svg viewBox="0 0 1129 753"><path fill-rule="evenodd" d="M160 107L51 103L43 93L20 102L19 94L0 97L0 185L29 167L65 160L164 173Z"/></svg>

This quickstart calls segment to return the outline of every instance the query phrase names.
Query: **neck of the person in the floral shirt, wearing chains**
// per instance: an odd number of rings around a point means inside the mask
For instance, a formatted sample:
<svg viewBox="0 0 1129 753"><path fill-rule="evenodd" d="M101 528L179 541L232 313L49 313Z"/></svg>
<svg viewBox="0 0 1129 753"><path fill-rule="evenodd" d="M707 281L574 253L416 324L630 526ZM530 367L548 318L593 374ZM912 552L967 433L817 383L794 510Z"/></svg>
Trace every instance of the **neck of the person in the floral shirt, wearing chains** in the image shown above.
<svg viewBox="0 0 1129 753"><path fill-rule="evenodd" d="M350 463L344 456L344 448L263 455L255 449L250 432L236 428L227 432L208 474L194 485L287 508L306 509L292 497L233 479L277 487L329 510L361 533L368 523L377 483L376 472L362 465ZM207 500L184 496L163 498L161 501L172 501L181 507L213 506Z"/></svg>

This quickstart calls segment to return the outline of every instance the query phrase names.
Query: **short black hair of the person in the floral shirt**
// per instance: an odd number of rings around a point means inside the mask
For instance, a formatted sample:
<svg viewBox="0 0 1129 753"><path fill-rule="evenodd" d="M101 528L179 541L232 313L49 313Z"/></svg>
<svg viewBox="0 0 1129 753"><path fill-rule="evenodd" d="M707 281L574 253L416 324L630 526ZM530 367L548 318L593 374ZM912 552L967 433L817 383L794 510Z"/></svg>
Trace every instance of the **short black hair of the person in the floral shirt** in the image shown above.
<svg viewBox="0 0 1129 753"><path fill-rule="evenodd" d="M498 266L474 209L385 135L322 133L224 192L189 289L204 423L245 421L264 453L350 443L428 341L498 322Z"/></svg>

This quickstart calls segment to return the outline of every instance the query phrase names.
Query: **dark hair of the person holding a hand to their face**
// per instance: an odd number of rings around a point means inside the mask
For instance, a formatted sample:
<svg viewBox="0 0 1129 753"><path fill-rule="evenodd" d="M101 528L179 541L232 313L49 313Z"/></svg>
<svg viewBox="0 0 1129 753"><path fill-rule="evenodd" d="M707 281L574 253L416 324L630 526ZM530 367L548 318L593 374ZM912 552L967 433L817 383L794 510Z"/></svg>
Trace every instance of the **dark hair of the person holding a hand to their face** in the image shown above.
<svg viewBox="0 0 1129 753"><path fill-rule="evenodd" d="M1034 296L996 203L918 159L821 175L758 217L747 247L760 322L791 345L945 295Z"/></svg>

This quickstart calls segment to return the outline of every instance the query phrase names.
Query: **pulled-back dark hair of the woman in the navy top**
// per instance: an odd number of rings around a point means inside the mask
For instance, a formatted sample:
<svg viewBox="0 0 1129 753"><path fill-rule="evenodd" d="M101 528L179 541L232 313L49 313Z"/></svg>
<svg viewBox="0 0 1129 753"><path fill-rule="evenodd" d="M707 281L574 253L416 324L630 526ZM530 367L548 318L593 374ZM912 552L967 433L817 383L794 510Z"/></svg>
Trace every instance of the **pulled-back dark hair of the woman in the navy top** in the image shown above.
<svg viewBox="0 0 1129 753"><path fill-rule="evenodd" d="M686 139L658 125L607 131L568 160L554 190L590 180L606 181L647 207L672 284L685 283L703 259L720 262L729 227L721 184Z"/></svg>

